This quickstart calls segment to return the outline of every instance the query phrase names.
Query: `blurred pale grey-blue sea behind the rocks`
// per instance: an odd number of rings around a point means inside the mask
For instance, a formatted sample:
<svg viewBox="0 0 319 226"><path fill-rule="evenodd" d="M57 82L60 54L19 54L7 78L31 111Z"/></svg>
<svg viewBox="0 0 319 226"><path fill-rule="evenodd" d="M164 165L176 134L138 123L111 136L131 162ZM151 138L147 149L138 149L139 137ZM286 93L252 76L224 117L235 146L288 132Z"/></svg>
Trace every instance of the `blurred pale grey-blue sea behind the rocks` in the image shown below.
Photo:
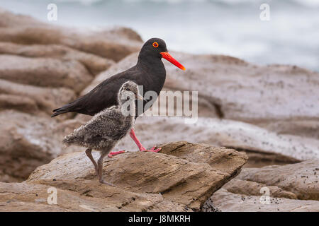
<svg viewBox="0 0 319 226"><path fill-rule="evenodd" d="M58 25L101 29L123 25L168 49L228 54L255 64L295 64L319 71L319 0L0 0L0 7ZM270 6L262 21L259 6ZM1 19L1 18L0 18Z"/></svg>

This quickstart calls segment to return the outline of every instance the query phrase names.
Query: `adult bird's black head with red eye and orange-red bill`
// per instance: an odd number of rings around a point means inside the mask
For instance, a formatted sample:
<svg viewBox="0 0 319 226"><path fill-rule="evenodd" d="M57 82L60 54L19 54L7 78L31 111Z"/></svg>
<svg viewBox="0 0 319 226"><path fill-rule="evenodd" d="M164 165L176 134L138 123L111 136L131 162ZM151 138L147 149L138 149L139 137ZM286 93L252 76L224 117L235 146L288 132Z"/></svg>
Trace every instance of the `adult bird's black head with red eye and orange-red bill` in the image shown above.
<svg viewBox="0 0 319 226"><path fill-rule="evenodd" d="M142 61L150 61L150 59L167 59L179 69L185 70L184 66L174 59L167 51L166 43L164 40L153 37L147 40L140 49L140 55L138 57Z"/></svg>

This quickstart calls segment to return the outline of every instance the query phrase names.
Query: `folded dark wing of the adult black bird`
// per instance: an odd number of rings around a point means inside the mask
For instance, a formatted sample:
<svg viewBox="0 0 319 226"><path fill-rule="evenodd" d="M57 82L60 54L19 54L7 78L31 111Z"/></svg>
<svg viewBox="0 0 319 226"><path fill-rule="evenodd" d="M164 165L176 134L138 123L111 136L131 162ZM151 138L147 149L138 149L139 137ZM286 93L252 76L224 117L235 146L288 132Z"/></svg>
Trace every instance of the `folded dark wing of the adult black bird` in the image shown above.
<svg viewBox="0 0 319 226"><path fill-rule="evenodd" d="M118 90L120 90L121 85L123 85L125 81L135 81L135 78L139 77L139 71L134 66L127 71L107 78L86 95L79 97L77 100L63 107L54 109L53 112L55 113L52 114L52 117L66 112L94 115L103 109L117 105Z"/></svg>

